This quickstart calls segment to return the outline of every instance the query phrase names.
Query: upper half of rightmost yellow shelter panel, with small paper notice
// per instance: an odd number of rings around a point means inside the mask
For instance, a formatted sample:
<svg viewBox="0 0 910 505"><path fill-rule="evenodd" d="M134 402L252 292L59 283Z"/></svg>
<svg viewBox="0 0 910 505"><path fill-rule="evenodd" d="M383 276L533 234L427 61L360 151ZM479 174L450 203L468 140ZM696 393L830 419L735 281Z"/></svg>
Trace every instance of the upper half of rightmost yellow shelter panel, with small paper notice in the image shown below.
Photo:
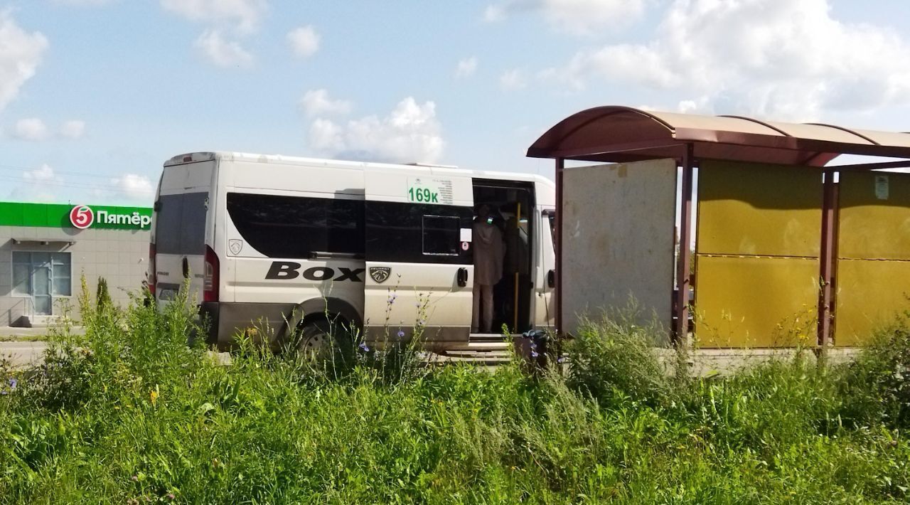
<svg viewBox="0 0 910 505"><path fill-rule="evenodd" d="M910 259L910 174L840 175L838 258Z"/></svg>

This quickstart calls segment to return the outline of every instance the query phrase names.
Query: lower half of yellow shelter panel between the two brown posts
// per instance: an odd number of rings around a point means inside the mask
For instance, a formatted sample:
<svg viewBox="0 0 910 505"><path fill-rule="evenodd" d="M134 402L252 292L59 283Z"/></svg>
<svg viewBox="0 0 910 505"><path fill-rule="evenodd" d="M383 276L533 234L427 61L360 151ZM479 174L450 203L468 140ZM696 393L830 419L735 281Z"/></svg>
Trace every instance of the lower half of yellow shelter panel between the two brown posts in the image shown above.
<svg viewBox="0 0 910 505"><path fill-rule="evenodd" d="M695 338L702 348L814 345L818 260L696 257Z"/></svg>

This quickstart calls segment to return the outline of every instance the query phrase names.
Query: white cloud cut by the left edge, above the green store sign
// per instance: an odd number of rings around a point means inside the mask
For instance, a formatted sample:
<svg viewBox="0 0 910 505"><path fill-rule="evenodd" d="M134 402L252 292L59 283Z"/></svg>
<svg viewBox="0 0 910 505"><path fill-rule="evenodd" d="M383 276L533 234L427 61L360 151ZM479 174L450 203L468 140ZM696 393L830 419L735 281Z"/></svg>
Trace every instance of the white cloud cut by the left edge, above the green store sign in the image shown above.
<svg viewBox="0 0 910 505"><path fill-rule="evenodd" d="M25 81L47 50L47 38L40 32L26 33L15 24L10 11L0 10L0 110L19 94Z"/></svg>

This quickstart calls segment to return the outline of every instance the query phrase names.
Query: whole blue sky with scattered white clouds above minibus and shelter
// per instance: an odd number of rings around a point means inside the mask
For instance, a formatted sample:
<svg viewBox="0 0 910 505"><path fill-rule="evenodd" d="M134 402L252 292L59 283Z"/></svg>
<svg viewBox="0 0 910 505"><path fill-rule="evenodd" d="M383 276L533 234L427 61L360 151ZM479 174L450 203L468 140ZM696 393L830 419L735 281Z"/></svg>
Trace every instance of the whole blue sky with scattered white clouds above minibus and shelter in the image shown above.
<svg viewBox="0 0 910 505"><path fill-rule="evenodd" d="M0 199L151 203L200 150L551 175L601 105L910 131L910 2L0 0Z"/></svg>

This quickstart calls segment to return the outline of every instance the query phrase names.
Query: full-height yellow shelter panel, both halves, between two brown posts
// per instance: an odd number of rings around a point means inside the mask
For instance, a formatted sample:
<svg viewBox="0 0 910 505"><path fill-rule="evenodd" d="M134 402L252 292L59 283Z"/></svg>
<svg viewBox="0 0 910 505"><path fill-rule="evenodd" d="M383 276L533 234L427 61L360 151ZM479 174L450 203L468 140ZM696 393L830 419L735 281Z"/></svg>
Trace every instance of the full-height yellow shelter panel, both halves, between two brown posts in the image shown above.
<svg viewBox="0 0 910 505"><path fill-rule="evenodd" d="M814 341L822 190L813 167L702 162L694 311L702 347Z"/></svg>

